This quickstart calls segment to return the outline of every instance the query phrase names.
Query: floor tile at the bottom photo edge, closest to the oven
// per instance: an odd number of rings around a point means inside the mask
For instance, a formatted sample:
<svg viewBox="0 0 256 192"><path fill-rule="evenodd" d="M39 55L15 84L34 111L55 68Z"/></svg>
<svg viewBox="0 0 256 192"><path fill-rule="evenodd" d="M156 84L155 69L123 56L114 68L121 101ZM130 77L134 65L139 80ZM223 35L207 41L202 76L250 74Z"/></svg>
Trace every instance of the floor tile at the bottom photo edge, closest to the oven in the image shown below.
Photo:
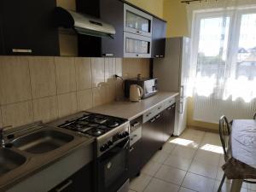
<svg viewBox="0 0 256 192"><path fill-rule="evenodd" d="M131 180L130 189L135 190L137 192L143 192L143 190L148 186L152 177L141 174L139 177L136 177Z"/></svg>

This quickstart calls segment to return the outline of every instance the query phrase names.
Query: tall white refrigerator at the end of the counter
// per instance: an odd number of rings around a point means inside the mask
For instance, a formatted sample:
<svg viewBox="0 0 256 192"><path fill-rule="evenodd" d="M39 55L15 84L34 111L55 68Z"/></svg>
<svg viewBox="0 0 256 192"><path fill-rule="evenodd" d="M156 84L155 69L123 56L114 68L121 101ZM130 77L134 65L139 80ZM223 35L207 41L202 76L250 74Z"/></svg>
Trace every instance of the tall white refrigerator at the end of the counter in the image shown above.
<svg viewBox="0 0 256 192"><path fill-rule="evenodd" d="M154 59L154 78L163 91L179 92L176 105L174 136L179 136L187 126L189 38L166 38L165 58Z"/></svg>

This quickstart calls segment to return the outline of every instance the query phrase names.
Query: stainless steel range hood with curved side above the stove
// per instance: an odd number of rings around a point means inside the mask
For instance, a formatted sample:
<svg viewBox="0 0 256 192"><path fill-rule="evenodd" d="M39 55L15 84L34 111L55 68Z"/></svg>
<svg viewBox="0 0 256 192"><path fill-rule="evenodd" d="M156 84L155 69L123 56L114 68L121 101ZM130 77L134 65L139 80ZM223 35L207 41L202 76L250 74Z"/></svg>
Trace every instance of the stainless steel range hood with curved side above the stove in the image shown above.
<svg viewBox="0 0 256 192"><path fill-rule="evenodd" d="M75 32L84 35L113 38L115 34L112 25L90 15L61 7L55 8L55 23L57 26L72 28Z"/></svg>

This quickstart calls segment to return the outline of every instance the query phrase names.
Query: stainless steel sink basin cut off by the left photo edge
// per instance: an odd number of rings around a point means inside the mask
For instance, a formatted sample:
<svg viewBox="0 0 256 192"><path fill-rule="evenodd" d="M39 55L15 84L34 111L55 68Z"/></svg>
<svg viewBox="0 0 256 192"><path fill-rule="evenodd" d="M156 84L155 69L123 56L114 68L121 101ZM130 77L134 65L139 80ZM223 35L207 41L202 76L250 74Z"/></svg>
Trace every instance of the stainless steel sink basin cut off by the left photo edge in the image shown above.
<svg viewBox="0 0 256 192"><path fill-rule="evenodd" d="M6 148L0 148L0 177L26 162L26 157Z"/></svg>

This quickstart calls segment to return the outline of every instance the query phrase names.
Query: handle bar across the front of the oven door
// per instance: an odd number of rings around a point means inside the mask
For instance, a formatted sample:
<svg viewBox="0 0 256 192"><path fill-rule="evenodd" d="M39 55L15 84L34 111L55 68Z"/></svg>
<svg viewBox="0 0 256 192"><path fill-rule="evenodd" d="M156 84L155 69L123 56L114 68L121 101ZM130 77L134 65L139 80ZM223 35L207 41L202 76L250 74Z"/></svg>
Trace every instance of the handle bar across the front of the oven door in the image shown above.
<svg viewBox="0 0 256 192"><path fill-rule="evenodd" d="M101 160L108 160L111 159L116 154L119 154L121 151L127 149L129 151L130 146L130 137L125 138L122 142L118 143L116 146L111 148L107 153L103 154L102 157L100 157Z"/></svg>

